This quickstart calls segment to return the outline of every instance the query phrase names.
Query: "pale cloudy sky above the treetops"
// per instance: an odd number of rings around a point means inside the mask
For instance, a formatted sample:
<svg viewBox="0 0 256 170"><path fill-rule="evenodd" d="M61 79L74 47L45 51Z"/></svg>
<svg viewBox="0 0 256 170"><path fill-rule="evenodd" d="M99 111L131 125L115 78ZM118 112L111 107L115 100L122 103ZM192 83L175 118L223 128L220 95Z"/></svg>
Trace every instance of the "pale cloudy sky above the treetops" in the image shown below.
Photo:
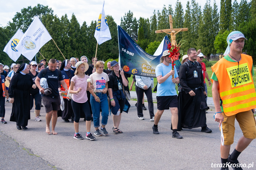
<svg viewBox="0 0 256 170"><path fill-rule="evenodd" d="M203 9L206 0L195 1L198 2ZM232 0L232 4L233 1L234 0ZM237 1L240 3L241 0ZM180 2L185 10L187 0L180 0ZM71 15L74 13L80 25L82 25L84 21L87 22L87 25L90 25L92 20L98 19L102 9L103 0L0 0L0 26L6 26L9 21L12 21L15 13L20 12L22 8L27 8L28 6L34 7L38 3L44 6L48 5L58 17L61 17L66 13L68 18L71 19ZM105 0L104 10L105 14L112 15L117 25L119 25L121 17L123 17L129 10L133 12L133 15L137 19L139 19L139 17L150 19L154 9L156 11L161 11L163 5L168 7L170 3L174 9L176 0ZM213 0L211 1L211 4L213 5ZM216 0L216 4L218 10L220 10L220 0Z"/></svg>

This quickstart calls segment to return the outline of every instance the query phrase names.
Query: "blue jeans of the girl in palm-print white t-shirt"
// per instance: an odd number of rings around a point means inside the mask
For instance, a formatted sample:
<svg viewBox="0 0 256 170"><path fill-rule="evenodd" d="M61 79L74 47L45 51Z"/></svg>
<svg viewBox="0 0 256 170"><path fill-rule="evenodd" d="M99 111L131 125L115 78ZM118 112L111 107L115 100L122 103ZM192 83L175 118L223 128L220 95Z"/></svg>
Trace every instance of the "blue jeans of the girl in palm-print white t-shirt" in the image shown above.
<svg viewBox="0 0 256 170"><path fill-rule="evenodd" d="M95 101L93 95L90 97L90 103L93 111L93 126L100 127L100 109L101 109L101 124L106 125L108 123L109 116L109 104L107 99L107 94L104 93L96 93L98 98L100 99L100 103Z"/></svg>

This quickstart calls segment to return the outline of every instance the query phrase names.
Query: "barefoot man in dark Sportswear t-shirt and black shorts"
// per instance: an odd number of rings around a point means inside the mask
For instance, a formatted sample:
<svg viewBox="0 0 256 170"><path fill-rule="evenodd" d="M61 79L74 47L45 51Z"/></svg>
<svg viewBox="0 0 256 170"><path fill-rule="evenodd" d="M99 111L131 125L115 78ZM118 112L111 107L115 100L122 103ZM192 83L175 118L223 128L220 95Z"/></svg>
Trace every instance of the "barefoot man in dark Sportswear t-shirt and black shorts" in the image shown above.
<svg viewBox="0 0 256 170"><path fill-rule="evenodd" d="M58 115L57 111L60 110L61 98L58 92L58 81L61 82L61 85L65 88L65 92L68 92L68 87L62 77L61 71L56 69L57 62L55 59L50 59L48 63L48 68L45 68L41 71L35 80L36 86L39 88L40 92L42 93L42 101L45 106L46 112L46 133L53 135L58 134L55 132L55 125L57 123ZM52 90L51 94L45 95L44 88L40 86L41 78L47 79L48 87ZM50 132L50 121L52 118L52 132Z"/></svg>

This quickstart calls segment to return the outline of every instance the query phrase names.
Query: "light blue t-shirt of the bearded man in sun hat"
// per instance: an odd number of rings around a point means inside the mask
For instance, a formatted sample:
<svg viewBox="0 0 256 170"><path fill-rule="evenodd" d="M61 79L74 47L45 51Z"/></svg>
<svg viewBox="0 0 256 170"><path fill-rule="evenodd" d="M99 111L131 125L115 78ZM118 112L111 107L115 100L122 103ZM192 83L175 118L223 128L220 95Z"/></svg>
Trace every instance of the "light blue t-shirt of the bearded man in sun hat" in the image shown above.
<svg viewBox="0 0 256 170"><path fill-rule="evenodd" d="M155 68L155 75L158 76L165 76L168 72L171 71L171 64L169 66L164 65L163 63L158 64ZM178 77L178 73L176 70L176 67L174 66L174 77ZM175 83L171 81L172 76L168 77L165 82L161 84L157 84L157 92L156 96L170 96L170 95L177 95L176 89L175 89Z"/></svg>

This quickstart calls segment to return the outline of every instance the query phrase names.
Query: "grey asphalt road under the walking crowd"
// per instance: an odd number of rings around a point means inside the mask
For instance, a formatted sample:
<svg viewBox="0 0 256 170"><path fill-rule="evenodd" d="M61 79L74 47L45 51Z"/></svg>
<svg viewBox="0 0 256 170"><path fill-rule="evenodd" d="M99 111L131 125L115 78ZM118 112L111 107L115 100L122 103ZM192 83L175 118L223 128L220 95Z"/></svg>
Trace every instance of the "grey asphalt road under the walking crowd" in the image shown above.
<svg viewBox="0 0 256 170"><path fill-rule="evenodd" d="M58 135L47 135L44 107L40 117L42 122L34 120L33 108L28 129L18 130L15 122L9 121L12 104L6 103L5 120L8 123L0 124L0 169L220 169L212 167L212 163L220 163L220 131L213 119L214 111L206 114L207 125L212 133L203 133L201 128L184 129L180 132L183 139L176 139L171 136L169 110L164 111L158 124L160 134L154 135L148 110L143 111L145 120L139 120L134 106L136 101L130 103L129 113L122 114L119 127L124 133L112 132L111 115L106 125L109 135L96 137L94 141L73 139L73 123L65 123L61 117L55 128ZM147 103L145 106L148 108ZM157 105L154 103L154 112L156 110ZM230 152L242 136L237 122L235 127L234 144ZM79 132L85 137L83 119L80 119ZM256 140L253 140L238 160L248 165L255 158ZM250 169L256 169L256 162Z"/></svg>

